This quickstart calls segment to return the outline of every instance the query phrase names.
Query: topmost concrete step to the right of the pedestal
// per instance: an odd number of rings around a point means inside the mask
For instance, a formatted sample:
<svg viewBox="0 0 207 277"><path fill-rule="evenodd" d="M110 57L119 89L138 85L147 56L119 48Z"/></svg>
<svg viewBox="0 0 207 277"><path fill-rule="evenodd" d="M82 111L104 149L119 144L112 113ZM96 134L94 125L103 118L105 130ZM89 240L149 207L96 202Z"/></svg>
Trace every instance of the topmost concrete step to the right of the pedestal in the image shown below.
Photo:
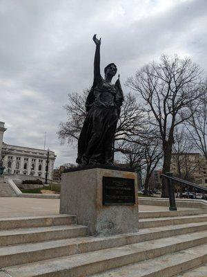
<svg viewBox="0 0 207 277"><path fill-rule="evenodd" d="M195 210L186 210L186 211L144 211L139 212L139 219L144 218L155 218L155 217L177 217L183 215L201 215L206 214L207 209L195 209Z"/></svg>

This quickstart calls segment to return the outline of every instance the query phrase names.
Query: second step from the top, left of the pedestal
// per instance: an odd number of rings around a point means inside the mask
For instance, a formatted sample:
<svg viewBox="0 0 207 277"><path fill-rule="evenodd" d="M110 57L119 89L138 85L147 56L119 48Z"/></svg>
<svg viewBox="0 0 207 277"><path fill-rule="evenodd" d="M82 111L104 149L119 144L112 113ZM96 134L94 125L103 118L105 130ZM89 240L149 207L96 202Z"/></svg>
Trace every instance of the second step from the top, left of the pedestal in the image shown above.
<svg viewBox="0 0 207 277"><path fill-rule="evenodd" d="M0 231L0 246L77 238L88 234L88 228L80 225L44 226Z"/></svg>

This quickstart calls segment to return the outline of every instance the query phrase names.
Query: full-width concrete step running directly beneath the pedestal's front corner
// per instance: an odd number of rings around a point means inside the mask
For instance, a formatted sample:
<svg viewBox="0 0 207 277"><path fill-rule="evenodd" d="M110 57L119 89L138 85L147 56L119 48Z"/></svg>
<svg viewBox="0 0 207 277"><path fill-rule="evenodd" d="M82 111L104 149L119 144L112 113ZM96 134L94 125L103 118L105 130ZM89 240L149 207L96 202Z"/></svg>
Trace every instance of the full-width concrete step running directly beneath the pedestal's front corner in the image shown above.
<svg viewBox="0 0 207 277"><path fill-rule="evenodd" d="M126 244L134 244L147 240L157 240L160 238L168 238L174 235L189 235L191 232L206 231L207 224L182 224L181 226L164 226L153 229L142 229L138 233L125 235L113 235L107 238L72 238L66 240L52 240L46 242L32 242L28 244L17 244L7 247L0 247L0 265L6 262L3 266L19 265L22 258L25 262L55 258L63 256L65 251L67 255L75 253L86 253L89 251L97 251L112 247L119 247ZM57 251L54 251L56 248ZM48 250L47 250L48 249Z"/></svg>

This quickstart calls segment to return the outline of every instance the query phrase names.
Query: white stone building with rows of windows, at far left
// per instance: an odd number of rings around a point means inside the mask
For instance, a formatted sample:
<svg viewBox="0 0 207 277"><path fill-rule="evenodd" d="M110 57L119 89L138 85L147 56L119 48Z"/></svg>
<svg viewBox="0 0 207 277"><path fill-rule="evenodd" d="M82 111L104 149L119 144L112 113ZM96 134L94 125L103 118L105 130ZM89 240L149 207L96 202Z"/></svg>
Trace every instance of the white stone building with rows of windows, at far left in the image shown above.
<svg viewBox="0 0 207 277"><path fill-rule="evenodd" d="M45 178L48 160L48 179L52 179L55 152L3 143L5 131L4 123L0 122L0 157L3 158L3 166L5 167L3 173Z"/></svg>

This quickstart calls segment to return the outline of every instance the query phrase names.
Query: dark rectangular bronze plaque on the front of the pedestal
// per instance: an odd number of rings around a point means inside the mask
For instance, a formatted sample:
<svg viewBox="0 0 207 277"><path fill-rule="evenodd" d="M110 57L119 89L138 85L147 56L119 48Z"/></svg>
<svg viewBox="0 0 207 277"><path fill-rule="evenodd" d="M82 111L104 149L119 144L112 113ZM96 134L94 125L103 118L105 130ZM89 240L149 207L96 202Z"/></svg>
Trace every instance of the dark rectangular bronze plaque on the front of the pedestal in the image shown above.
<svg viewBox="0 0 207 277"><path fill-rule="evenodd" d="M103 205L134 205L135 179L103 177Z"/></svg>

